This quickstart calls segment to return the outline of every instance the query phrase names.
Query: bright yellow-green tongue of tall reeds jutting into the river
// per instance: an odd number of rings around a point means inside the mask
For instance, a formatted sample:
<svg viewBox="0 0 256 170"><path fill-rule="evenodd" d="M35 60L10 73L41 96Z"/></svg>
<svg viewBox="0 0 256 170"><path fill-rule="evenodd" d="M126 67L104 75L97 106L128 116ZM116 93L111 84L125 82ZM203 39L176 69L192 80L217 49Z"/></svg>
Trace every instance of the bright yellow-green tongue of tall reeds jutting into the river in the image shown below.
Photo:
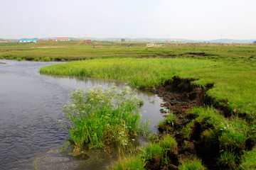
<svg viewBox="0 0 256 170"><path fill-rule="evenodd" d="M153 87L171 79L181 71L190 71L210 67L218 62L193 59L135 59L112 58L102 60L86 60L56 64L43 67L41 74L65 76L93 77L102 79L121 79L137 87Z"/></svg>

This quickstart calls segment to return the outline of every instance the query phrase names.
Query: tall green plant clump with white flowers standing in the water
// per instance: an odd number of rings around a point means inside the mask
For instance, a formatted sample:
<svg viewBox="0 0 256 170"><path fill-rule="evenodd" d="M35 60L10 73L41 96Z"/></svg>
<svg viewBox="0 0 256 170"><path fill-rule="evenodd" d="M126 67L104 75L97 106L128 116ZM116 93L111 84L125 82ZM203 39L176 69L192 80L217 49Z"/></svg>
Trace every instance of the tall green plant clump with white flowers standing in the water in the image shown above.
<svg viewBox="0 0 256 170"><path fill-rule="evenodd" d="M134 140L131 137L146 132L147 123L139 115L140 99L129 87L78 89L70 94L70 100L64 113L75 149L85 145L99 148L110 142L128 145L129 140Z"/></svg>

